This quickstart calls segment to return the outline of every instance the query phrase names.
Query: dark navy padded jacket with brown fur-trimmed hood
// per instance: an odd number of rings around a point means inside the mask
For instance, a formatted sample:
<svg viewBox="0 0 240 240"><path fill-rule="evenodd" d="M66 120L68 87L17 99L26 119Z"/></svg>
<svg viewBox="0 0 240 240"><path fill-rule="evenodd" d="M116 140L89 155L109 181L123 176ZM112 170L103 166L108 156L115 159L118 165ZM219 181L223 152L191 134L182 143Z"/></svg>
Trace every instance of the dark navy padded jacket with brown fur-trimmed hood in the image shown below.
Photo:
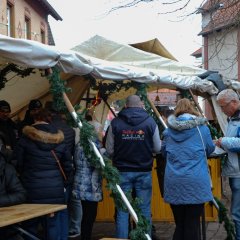
<svg viewBox="0 0 240 240"><path fill-rule="evenodd" d="M30 203L64 203L64 179L51 150L54 150L65 174L71 172L70 152L64 135L51 124L23 128L23 136L13 153L17 169Z"/></svg>

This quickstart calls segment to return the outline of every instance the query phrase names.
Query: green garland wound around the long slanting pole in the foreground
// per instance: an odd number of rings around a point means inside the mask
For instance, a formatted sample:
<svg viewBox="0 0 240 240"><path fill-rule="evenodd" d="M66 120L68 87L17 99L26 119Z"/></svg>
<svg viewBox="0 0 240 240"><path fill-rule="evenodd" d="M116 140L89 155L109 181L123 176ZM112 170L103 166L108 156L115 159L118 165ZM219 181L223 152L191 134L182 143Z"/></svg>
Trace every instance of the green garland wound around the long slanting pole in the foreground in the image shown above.
<svg viewBox="0 0 240 240"><path fill-rule="evenodd" d="M53 73L48 77L50 82L50 91L53 95L54 106L58 111L66 113L68 119L71 118L71 115L68 113L67 108L65 106L62 93L69 91L65 87L65 82L60 79L59 71L56 68L53 68ZM103 156L105 167L102 168L99 162L98 157L96 156L94 150L92 149L91 145L89 144L89 140L94 141L96 138L96 134L94 133L94 128L86 122L83 117L83 114L77 113L78 118L83 124L81 128L81 135L80 135L80 143L83 146L84 154L90 160L90 164L98 169L100 169L102 176L107 181L107 189L111 191L111 197L113 197L115 206L118 209L122 209L127 211L125 203L123 202L121 195L116 187L117 184L120 183L120 176L118 170L112 166L111 160L109 160L106 156ZM72 118L71 118L72 119ZM73 123L72 126L76 126L76 123ZM138 207L139 200L132 199L131 193L127 193L126 197L129 199L130 204L132 205L134 211L138 216L138 223L136 224L136 228L130 232L130 236L132 240L146 240L145 234L150 232L150 224L146 220L146 218L141 214L141 211Z"/></svg>

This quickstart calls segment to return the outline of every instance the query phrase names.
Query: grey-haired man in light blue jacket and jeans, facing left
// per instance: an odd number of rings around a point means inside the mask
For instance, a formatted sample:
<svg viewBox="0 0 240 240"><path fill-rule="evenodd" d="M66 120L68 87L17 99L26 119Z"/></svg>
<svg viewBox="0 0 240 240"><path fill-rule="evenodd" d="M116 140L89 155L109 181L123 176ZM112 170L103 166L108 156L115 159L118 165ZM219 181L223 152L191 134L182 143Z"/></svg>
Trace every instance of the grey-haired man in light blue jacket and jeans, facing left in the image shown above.
<svg viewBox="0 0 240 240"><path fill-rule="evenodd" d="M219 138L216 145L228 153L222 167L222 176L229 178L232 191L231 215L236 240L240 240L240 100L234 90L225 89L218 94L217 102L229 120L225 137Z"/></svg>

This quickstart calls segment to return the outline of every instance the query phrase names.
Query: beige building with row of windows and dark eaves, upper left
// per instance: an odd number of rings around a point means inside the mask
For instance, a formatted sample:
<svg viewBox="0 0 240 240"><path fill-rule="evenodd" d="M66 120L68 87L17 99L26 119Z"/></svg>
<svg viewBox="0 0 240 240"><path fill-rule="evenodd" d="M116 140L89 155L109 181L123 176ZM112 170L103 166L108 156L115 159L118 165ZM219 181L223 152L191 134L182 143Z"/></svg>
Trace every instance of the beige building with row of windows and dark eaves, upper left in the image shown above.
<svg viewBox="0 0 240 240"><path fill-rule="evenodd" d="M62 20L46 0L0 1L0 34L55 45L48 16Z"/></svg>

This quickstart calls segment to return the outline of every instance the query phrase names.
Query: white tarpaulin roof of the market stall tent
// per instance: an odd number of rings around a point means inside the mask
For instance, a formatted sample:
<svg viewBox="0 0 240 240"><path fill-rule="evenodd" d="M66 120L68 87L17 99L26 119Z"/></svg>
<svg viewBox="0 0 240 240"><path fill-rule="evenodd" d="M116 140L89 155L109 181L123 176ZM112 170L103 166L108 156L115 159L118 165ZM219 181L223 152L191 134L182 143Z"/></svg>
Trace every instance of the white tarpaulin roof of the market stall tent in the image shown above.
<svg viewBox="0 0 240 240"><path fill-rule="evenodd" d="M0 67L7 63L39 69L56 66L73 75L91 74L97 79L164 84L210 95L218 92L212 82L197 77L205 71L203 69L99 36L80 44L74 51L62 51L55 46L0 35Z"/></svg>

